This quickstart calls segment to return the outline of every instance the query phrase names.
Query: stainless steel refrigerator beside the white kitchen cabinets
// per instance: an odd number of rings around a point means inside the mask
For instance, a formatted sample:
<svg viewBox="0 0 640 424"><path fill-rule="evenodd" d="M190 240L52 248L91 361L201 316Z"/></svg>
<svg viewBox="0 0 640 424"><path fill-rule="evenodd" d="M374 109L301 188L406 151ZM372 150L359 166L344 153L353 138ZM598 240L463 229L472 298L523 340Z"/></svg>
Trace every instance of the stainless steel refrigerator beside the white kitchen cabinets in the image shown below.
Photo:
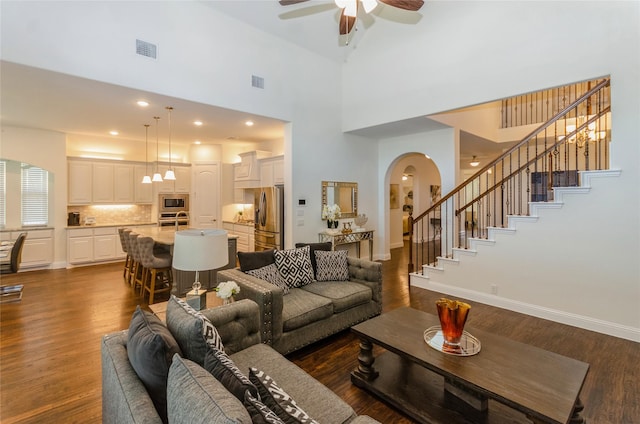
<svg viewBox="0 0 640 424"><path fill-rule="evenodd" d="M255 250L284 248L283 186L261 187L254 191Z"/></svg>

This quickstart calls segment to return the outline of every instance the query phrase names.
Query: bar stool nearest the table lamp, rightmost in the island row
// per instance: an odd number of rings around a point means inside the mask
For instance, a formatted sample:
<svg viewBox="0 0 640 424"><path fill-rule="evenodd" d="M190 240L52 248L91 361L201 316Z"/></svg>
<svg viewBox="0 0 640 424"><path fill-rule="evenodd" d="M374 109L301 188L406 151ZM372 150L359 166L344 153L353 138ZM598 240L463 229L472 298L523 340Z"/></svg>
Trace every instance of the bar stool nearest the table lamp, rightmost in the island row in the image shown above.
<svg viewBox="0 0 640 424"><path fill-rule="evenodd" d="M157 293L169 292L173 286L170 254L154 253L151 237L138 237L138 253L144 267L142 298L149 292L149 305L153 304Z"/></svg>

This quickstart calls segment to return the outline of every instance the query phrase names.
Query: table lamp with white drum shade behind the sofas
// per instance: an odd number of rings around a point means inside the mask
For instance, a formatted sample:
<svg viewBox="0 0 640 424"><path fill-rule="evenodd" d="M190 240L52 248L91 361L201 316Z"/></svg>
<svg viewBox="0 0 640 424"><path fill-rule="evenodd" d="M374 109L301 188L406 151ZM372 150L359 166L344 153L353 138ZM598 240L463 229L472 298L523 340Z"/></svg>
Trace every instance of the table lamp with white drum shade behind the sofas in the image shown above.
<svg viewBox="0 0 640 424"><path fill-rule="evenodd" d="M224 230L184 230L176 232L173 244L173 267L195 271L195 281L187 293L187 303L196 310L207 306L206 290L200 290L200 271L225 266L229 262L229 242Z"/></svg>

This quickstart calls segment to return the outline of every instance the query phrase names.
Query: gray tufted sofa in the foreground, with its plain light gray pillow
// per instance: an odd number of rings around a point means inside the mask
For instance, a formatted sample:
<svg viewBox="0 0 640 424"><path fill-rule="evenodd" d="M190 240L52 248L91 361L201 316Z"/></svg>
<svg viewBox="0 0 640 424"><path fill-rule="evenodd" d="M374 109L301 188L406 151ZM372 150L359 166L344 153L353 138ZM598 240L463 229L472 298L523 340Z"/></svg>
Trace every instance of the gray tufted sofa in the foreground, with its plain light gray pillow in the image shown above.
<svg viewBox="0 0 640 424"><path fill-rule="evenodd" d="M218 330L225 351L240 370L256 367L270 375L309 416L319 423L376 423L356 416L333 392L260 343L258 305L249 300L202 311ZM145 386L127 355L128 330L102 339L102 422L162 423ZM246 372L246 371L245 371ZM250 423L236 397L189 359L173 356L167 380L169 423Z"/></svg>

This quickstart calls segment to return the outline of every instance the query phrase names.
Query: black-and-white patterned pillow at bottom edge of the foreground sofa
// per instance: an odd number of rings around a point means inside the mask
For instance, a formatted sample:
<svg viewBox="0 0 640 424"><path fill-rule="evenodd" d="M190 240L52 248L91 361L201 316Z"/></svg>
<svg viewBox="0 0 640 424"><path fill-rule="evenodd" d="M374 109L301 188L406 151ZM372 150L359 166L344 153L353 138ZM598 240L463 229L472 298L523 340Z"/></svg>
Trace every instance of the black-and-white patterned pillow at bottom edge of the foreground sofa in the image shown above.
<svg viewBox="0 0 640 424"><path fill-rule="evenodd" d="M286 424L318 424L317 421L309 417L309 415L296 404L296 401L294 401L287 392L282 390L264 371L253 367L250 368L249 380L258 388L260 400Z"/></svg>

